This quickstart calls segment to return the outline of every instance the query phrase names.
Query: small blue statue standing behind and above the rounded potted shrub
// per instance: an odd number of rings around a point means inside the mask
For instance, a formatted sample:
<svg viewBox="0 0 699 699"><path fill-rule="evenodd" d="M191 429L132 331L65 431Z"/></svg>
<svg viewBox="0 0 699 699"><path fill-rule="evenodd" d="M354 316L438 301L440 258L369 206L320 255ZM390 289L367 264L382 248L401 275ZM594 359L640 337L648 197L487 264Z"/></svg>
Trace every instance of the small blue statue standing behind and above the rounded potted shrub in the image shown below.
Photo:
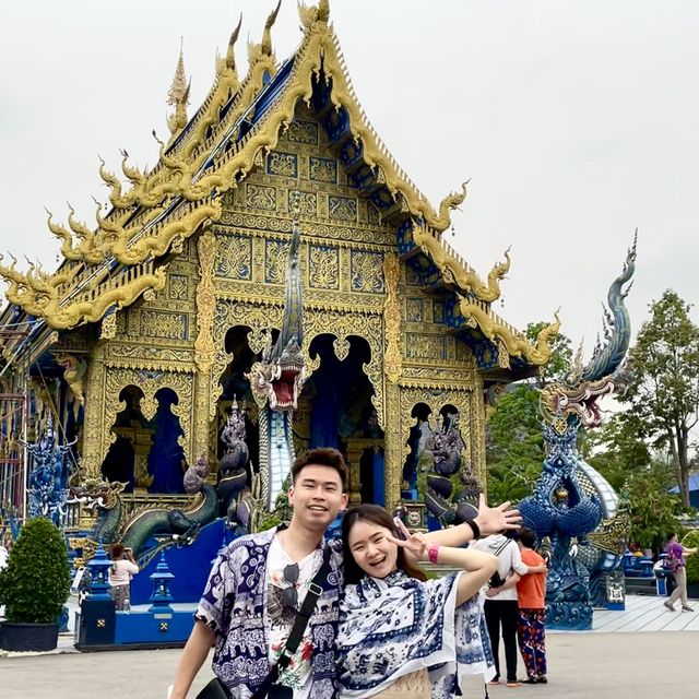
<svg viewBox="0 0 699 699"><path fill-rule="evenodd" d="M75 440L69 445L57 443L54 418L49 413L46 428L37 441L23 443L33 461L27 488L29 517L46 517L60 526L70 493L67 457Z"/></svg>

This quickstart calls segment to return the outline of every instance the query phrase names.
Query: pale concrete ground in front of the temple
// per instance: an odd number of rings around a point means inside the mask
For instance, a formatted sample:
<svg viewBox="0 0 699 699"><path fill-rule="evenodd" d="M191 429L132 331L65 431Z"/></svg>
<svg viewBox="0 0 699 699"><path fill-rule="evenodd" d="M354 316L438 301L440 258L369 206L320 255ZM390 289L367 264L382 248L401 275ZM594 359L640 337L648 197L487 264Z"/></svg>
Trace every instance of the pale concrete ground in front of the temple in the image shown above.
<svg viewBox="0 0 699 699"><path fill-rule="evenodd" d="M519 695L566 699L696 696L699 631L569 632L547 638L549 684L490 687L491 699ZM0 657L2 699L165 699L181 651L119 651ZM520 674L523 667L520 664ZM206 663L189 697L211 678ZM464 696L481 699L475 678Z"/></svg>

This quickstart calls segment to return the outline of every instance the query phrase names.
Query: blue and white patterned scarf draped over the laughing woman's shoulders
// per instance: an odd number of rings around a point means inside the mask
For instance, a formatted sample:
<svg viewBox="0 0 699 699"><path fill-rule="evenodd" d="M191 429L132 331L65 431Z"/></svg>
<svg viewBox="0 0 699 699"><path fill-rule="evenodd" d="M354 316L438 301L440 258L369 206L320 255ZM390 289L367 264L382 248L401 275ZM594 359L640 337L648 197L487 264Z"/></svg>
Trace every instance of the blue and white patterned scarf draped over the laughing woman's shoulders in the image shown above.
<svg viewBox="0 0 699 699"><path fill-rule="evenodd" d="M483 602L457 607L463 573L420 582L396 571L345 588L337 630L341 699L364 699L429 670L433 699L461 694L459 679L495 675Z"/></svg>

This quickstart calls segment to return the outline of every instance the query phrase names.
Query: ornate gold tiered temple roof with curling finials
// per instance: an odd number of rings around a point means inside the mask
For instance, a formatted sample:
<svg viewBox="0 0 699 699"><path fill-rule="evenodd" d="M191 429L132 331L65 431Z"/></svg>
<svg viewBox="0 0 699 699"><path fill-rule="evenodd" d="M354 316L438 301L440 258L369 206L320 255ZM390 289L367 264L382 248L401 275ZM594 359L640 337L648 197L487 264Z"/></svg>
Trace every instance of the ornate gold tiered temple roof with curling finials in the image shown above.
<svg viewBox="0 0 699 699"><path fill-rule="evenodd" d="M104 211L97 205L95 228L76 221L72 209L68 227L54 222L49 213L48 227L62 242L63 261L56 273L49 274L35 266L22 273L16 270L16 261L5 265L0 259L0 276L9 283L8 300L50 328L66 330L98 321L111 309L163 288L164 256L176 252L202 225L221 216L221 194L237 186L259 154L276 146L283 129L294 119L297 102L310 105L313 81L324 79L332 105L348 115L348 128L355 142L362 144L364 162L412 216L415 245L435 263L445 284L459 294L466 325L500 343L508 355L525 357L532 365L544 364L548 359L545 350L537 352L522 333L490 310L489 304L499 297L499 282L510 266L508 252L484 283L441 236L451 224L451 210L465 199L465 183L435 209L395 162L352 86L337 37L329 24L327 0L318 7L299 3L303 40L281 66L271 38L277 11L279 4L268 17L260 44L249 44L249 68L242 81L238 80L234 57L238 24L226 57L216 61L215 80L206 98L189 120L182 116L189 88L183 86L183 66L178 64L177 90L171 91L175 114L168 120L170 139L167 144L158 141L155 167L142 173L129 165L128 154L122 152L121 170L128 181L125 187L103 163L99 174L110 189L111 208ZM285 79L274 99L240 138L242 125L250 123L256 100L282 70Z"/></svg>

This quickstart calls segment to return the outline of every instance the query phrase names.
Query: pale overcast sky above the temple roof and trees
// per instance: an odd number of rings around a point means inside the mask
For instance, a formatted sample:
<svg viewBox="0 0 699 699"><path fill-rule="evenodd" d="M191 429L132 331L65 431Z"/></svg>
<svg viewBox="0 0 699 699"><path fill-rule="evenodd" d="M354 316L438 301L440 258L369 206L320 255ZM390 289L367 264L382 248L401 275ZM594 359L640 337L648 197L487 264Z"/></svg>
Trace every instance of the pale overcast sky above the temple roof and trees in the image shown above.
<svg viewBox="0 0 699 699"><path fill-rule="evenodd" d="M699 3L687 0L331 0L357 95L395 159L437 205L472 178L449 240L485 277L512 246L496 310L549 319L588 353L601 303L639 228L629 298L638 330L673 287L699 295ZM55 266L44 206L94 225L99 153L153 165L183 36L190 115L244 13L259 40L273 0L3 2L0 251ZM298 44L296 3L273 29ZM695 321L697 310L692 310Z"/></svg>

